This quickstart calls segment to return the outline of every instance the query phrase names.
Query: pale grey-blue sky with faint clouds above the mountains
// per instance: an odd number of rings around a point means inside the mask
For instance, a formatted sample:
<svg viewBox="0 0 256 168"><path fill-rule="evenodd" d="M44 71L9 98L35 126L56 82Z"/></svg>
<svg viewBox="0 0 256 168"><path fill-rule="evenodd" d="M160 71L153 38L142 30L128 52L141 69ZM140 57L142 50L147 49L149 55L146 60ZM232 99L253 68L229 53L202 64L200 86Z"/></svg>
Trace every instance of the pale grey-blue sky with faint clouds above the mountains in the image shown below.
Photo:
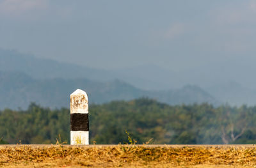
<svg viewBox="0 0 256 168"><path fill-rule="evenodd" d="M256 1L0 0L0 48L95 68L256 61Z"/></svg>

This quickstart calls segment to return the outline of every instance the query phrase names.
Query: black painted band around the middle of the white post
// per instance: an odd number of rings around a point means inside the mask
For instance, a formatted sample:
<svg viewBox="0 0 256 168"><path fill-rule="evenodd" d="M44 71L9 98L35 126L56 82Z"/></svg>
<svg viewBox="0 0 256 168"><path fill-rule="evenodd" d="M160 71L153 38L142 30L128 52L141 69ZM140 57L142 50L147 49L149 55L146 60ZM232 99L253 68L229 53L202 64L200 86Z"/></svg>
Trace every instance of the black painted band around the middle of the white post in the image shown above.
<svg viewBox="0 0 256 168"><path fill-rule="evenodd" d="M71 131L89 131L88 114L70 114Z"/></svg>

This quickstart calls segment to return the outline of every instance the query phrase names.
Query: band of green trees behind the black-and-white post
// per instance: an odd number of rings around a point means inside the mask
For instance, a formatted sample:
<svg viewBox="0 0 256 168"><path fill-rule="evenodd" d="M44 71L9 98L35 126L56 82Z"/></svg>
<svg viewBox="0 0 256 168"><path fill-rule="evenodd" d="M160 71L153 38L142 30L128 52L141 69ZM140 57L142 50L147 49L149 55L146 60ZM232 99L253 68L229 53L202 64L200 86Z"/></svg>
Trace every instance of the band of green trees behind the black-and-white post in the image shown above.
<svg viewBox="0 0 256 168"><path fill-rule="evenodd" d="M90 143L255 144L256 107L167 105L148 98L90 105ZM127 132L125 132L127 130ZM59 138L61 137L61 140ZM0 143L70 142L69 109L0 111Z"/></svg>

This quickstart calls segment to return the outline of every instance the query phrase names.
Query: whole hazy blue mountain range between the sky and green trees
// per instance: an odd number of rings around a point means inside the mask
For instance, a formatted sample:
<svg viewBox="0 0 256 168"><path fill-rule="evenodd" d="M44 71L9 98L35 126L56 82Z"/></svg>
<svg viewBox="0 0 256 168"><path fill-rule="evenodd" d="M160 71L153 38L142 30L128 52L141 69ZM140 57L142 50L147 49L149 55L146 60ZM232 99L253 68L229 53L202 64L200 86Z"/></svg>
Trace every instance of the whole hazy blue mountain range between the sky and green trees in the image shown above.
<svg viewBox="0 0 256 168"><path fill-rule="evenodd" d="M68 97L77 88L88 93L91 103L146 96L171 105L255 104L256 91L236 81L221 80L221 70L216 70L217 82L207 70L199 72L198 68L190 73L172 72L154 65L103 70L0 49L0 109L24 109L30 102L52 108L68 107Z"/></svg>

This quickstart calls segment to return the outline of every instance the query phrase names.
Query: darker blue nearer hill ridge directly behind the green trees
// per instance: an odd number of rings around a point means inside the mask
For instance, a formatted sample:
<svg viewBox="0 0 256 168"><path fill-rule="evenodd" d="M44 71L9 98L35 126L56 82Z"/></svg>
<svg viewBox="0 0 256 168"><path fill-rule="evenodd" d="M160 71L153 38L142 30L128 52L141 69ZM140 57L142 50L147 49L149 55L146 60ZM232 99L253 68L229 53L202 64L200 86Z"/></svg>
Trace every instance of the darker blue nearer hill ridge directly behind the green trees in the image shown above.
<svg viewBox="0 0 256 168"><path fill-rule="evenodd" d="M90 103L132 100L147 96L169 104L216 104L213 96L197 86L168 91L146 91L120 80L98 82L88 79L34 79L25 73L0 72L0 109L26 109L31 102L44 107L69 107L69 95L77 88L88 93Z"/></svg>

